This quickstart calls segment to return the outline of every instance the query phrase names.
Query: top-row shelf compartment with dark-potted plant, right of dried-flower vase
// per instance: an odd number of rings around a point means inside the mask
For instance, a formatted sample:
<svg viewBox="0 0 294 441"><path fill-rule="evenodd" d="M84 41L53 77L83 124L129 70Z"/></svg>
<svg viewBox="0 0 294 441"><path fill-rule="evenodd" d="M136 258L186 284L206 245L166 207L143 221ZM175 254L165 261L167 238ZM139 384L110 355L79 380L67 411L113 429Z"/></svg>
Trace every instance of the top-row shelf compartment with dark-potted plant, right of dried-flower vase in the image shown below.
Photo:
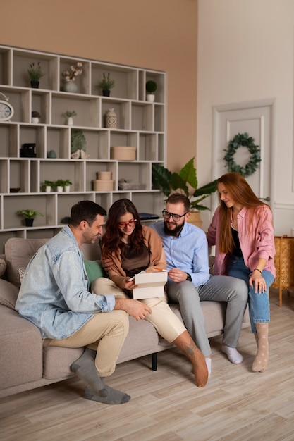
<svg viewBox="0 0 294 441"><path fill-rule="evenodd" d="M92 63L92 84L93 95L102 96L102 90L97 89L97 84L102 80L103 74L110 74L110 79L115 81L111 89L111 97L124 99L137 99L137 69L124 68L123 66L109 66L103 63Z"/></svg>

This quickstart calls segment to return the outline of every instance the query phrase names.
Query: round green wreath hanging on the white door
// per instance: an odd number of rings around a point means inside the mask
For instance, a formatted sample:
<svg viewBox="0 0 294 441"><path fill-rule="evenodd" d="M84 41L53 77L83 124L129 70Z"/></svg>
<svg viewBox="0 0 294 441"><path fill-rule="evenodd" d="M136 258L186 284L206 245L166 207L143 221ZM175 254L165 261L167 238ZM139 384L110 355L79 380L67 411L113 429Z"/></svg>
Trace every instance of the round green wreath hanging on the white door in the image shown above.
<svg viewBox="0 0 294 441"><path fill-rule="evenodd" d="M245 167L238 166L234 160L235 152L239 147L247 147L250 153L250 159ZM223 151L226 151L226 155L223 156L223 159L226 161L228 171L240 173L244 178L255 173L258 168L258 163L262 161L259 146L254 143L254 138L250 137L247 133L238 133L238 135L235 135L228 143L228 148Z"/></svg>

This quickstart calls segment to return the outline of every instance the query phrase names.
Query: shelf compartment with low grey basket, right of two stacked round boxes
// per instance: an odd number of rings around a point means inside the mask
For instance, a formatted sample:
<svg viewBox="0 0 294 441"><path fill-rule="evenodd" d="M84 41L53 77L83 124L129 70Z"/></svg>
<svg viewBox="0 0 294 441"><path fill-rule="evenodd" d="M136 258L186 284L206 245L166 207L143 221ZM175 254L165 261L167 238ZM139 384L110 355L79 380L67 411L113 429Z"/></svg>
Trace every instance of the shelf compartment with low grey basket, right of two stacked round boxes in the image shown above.
<svg viewBox="0 0 294 441"><path fill-rule="evenodd" d="M146 190L151 189L151 167L149 163L123 163L118 162L118 180L127 182L140 182L145 184ZM140 190L142 191L142 190Z"/></svg>

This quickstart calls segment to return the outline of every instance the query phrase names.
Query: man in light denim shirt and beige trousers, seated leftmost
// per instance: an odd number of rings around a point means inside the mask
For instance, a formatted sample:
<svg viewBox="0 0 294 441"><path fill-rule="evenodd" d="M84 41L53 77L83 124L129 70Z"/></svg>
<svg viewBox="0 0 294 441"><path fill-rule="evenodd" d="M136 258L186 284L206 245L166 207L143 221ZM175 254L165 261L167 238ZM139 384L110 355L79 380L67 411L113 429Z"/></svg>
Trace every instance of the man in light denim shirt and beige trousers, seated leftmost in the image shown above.
<svg viewBox="0 0 294 441"><path fill-rule="evenodd" d="M20 287L16 310L34 323L44 346L83 347L71 370L85 383L85 397L123 404L130 396L106 385L128 334L128 314L137 320L150 309L134 299L92 294L82 244L102 234L106 211L92 201L71 209L71 221L32 257ZM94 349L94 350L93 350Z"/></svg>

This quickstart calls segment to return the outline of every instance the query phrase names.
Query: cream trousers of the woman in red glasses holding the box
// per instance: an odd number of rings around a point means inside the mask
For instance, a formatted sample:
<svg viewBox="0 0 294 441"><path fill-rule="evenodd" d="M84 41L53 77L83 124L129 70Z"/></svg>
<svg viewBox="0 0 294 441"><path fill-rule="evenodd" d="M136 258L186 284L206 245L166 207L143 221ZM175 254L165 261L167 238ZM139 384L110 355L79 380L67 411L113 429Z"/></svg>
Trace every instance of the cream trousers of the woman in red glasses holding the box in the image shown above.
<svg viewBox="0 0 294 441"><path fill-rule="evenodd" d="M115 297L128 299L128 296L121 288L116 286L112 280L104 277L92 282L92 292L97 294L114 294ZM168 342L173 342L180 334L185 332L185 326L176 314L171 311L166 298L152 297L151 299L142 299L140 302L147 304L152 310L152 313L148 314L145 320L152 323L159 335Z"/></svg>

